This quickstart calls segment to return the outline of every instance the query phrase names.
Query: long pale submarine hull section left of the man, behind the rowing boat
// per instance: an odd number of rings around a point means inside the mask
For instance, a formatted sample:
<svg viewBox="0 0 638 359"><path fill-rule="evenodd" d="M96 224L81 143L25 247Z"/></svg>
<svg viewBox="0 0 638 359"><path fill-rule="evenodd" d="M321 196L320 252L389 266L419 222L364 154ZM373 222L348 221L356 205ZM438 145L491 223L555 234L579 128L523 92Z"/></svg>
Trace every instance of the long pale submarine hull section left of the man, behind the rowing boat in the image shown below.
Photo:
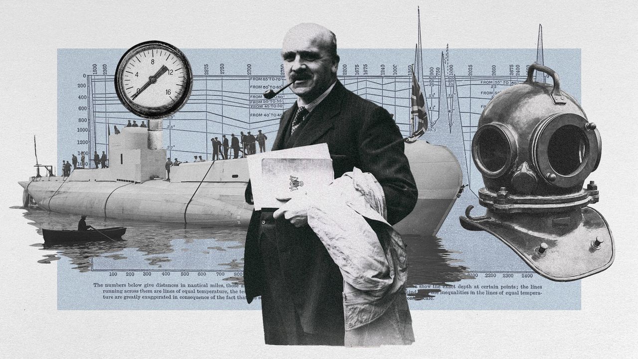
<svg viewBox="0 0 638 359"><path fill-rule="evenodd" d="M72 177L20 184L45 210L92 217L247 226L253 210L244 202L246 182L127 183L73 181Z"/></svg>

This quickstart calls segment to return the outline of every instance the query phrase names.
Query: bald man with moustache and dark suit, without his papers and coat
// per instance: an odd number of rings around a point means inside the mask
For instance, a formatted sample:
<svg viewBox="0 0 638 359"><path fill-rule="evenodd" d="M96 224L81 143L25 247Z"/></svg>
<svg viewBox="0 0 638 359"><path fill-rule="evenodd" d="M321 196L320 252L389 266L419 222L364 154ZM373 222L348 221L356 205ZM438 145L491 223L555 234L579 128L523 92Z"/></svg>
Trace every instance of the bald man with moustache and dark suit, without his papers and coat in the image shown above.
<svg viewBox="0 0 638 359"><path fill-rule="evenodd" d="M281 57L298 98L284 112L272 150L325 142L335 178L353 167L371 172L383 188L390 224L406 217L416 203L417 188L401 132L385 109L337 80L334 33L299 24L286 33ZM250 191L249 186L249 202ZM250 303L262 296L266 344L344 345L343 277L308 226L302 196L276 211L253 212L244 261L246 299Z"/></svg>

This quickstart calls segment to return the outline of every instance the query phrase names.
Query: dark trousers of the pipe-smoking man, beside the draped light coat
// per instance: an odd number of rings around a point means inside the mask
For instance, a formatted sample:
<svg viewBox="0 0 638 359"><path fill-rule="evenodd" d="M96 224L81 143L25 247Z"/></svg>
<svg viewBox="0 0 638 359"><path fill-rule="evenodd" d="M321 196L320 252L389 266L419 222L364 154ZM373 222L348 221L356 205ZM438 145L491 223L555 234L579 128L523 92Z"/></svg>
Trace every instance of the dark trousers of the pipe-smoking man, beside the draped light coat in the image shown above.
<svg viewBox="0 0 638 359"><path fill-rule="evenodd" d="M308 226L262 211L258 238L266 344L343 346L343 278Z"/></svg>

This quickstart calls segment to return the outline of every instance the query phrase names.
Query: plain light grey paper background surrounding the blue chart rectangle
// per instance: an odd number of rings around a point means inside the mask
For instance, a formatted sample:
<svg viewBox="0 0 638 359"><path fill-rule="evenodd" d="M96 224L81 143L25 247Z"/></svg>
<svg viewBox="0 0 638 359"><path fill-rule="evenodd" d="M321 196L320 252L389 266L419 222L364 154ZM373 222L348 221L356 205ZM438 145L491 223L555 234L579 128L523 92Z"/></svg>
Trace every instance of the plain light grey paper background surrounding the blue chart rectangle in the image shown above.
<svg viewBox="0 0 638 359"><path fill-rule="evenodd" d="M545 49L582 49L582 106L602 135L597 181L616 240L616 261L582 280L582 310L415 311L417 342L381 349L263 346L257 311L57 311L54 265L15 238L26 225L17 181L38 158L56 161L58 48L124 48L158 39L184 48L273 48L298 22L318 22L339 47L409 48L420 5L423 46L535 48L538 24ZM0 12L0 114L3 178L0 215L0 337L3 356L27 357L630 357L637 351L638 280L635 174L638 26L631 1L367 1L253 4L208 1L23 3ZM25 242L25 240L27 242Z"/></svg>

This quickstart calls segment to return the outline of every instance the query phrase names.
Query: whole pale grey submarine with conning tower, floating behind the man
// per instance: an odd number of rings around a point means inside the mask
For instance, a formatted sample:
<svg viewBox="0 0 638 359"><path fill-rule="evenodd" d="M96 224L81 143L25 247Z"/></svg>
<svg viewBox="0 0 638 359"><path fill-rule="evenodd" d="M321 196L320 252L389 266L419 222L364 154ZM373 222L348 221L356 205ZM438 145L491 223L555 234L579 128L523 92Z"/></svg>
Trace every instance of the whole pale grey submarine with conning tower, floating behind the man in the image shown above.
<svg viewBox="0 0 638 359"><path fill-rule="evenodd" d="M244 199L246 158L184 162L171 167L168 181L167 150L156 143L161 141L158 132L124 127L109 135L107 168L20 181L24 206L34 202L47 211L91 217L248 227L253 206ZM434 236L461 190L461 167L448 148L423 140L406 142L404 152L419 197L412 213L394 228L401 234Z"/></svg>

